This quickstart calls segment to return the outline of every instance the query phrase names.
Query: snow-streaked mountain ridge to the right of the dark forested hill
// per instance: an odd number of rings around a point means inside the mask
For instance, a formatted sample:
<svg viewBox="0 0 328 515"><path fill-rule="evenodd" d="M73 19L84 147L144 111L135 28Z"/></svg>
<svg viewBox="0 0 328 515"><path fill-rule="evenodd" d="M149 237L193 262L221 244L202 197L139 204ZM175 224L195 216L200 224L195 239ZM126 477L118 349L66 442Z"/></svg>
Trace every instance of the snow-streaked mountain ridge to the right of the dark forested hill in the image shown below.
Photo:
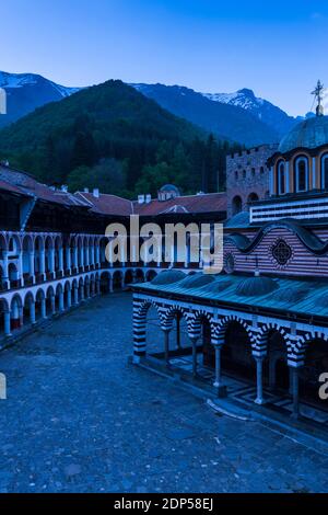
<svg viewBox="0 0 328 515"><path fill-rule="evenodd" d="M247 147L279 141L296 118L249 89L199 93L181 85L131 84L172 113Z"/></svg>

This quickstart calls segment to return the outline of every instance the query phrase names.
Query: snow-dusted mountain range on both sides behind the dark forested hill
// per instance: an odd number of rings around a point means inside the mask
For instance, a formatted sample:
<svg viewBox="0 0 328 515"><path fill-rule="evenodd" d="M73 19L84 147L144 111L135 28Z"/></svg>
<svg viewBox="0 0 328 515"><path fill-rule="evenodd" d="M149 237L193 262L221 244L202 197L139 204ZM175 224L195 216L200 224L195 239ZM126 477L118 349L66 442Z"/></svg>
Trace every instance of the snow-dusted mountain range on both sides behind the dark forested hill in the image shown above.
<svg viewBox="0 0 328 515"><path fill-rule="evenodd" d="M276 142L298 121L280 107L257 98L249 89L235 93L200 93L180 85L131 84L166 111L183 117L221 139L246 147ZM0 88L8 94L8 114L0 116L0 128L49 102L78 92L34 73L0 71Z"/></svg>

